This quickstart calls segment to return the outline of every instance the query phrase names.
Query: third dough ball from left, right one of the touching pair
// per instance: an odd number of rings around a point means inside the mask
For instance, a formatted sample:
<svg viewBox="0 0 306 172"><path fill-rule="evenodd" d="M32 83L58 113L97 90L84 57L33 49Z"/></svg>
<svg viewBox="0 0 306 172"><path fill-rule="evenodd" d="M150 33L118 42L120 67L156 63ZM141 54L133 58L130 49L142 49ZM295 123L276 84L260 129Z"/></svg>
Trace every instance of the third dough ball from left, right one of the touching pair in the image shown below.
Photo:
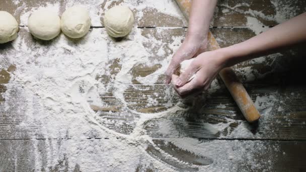
<svg viewBox="0 0 306 172"><path fill-rule="evenodd" d="M83 6L68 8L61 16L61 30L70 38L81 38L89 32L91 20Z"/></svg>

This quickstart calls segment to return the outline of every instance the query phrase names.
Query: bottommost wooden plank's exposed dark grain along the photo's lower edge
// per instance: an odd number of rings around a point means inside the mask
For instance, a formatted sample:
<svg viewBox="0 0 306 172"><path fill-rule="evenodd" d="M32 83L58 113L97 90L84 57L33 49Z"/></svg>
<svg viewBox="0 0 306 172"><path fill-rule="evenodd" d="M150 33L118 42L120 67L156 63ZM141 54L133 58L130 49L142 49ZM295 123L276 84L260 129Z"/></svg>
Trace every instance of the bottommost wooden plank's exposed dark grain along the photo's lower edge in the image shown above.
<svg viewBox="0 0 306 172"><path fill-rule="evenodd" d="M228 152L221 152L218 159L211 157L207 160L209 154L215 150L208 150L206 153L195 153L198 146L207 145L212 140L198 141L197 145L190 150L179 148L176 142L162 139L155 139L154 145L148 144L146 151L152 158L156 158L161 163L175 169L184 171L200 171L199 169L218 169L226 167L231 171L305 171L306 166L304 158L306 154L305 141L250 141L250 140L223 140L223 146L231 149L231 154L239 154L244 152L241 157L245 159L228 159ZM0 170L1 171L84 171L80 161L86 160L80 155L82 151L93 150L92 147L97 143L107 142L107 139L95 140L0 140ZM253 143L252 143L253 142ZM188 144L188 143L185 143ZM255 147L237 147L238 145L254 145ZM88 145L81 150L69 148L71 145ZM145 146L145 145L144 145ZM106 153L103 153L104 147L95 147L94 149L100 152L101 158ZM81 151L81 152L79 152ZM176 153L179 153L176 155ZM205 156L206 154L206 156ZM49 156L53 157L48 159ZM95 155L95 157L99 157ZM249 159L252 157L251 159ZM235 158L235 157L232 157ZM212 161L213 160L213 161ZM205 166L206 161L210 166ZM231 163L220 163L228 161ZM109 161L106 161L108 163ZM204 163L205 162L205 163ZM89 161L95 163L94 161ZM38 164L38 165L37 165ZM266 166L265 164L269 165ZM37 166L35 166L37 165ZM81 167L80 167L81 165ZM97 166L97 164L92 164ZM103 164L100 164L103 168ZM131 171L140 169L151 169L158 171L154 166L141 167L142 164L131 167ZM39 167L35 168L35 167ZM212 168L211 168L212 167Z"/></svg>

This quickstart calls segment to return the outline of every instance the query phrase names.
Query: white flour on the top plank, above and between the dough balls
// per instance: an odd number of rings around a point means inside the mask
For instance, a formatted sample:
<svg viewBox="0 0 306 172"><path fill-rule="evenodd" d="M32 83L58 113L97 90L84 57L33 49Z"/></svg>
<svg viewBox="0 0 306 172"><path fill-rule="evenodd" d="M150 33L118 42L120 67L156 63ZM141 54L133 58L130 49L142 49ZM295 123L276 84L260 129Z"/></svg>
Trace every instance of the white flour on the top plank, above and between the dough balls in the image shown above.
<svg viewBox="0 0 306 172"><path fill-rule="evenodd" d="M65 9L72 7L74 5L82 5L82 6L85 6L89 10L92 26L101 27L102 26L101 17L104 16L104 13L106 10L110 9L114 4L118 4L118 1L115 1L115 0L111 0L111 1L71 0L71 1L64 1L64 3L54 2L52 4L48 2L40 2L38 4L35 4L34 8L33 8L33 4L28 5L28 2L23 2L20 0L14 0L13 3L15 5L19 5L19 10L17 10L14 15L17 16L17 13L20 14L21 16L20 25L21 26L27 26L29 16L36 10L48 8L48 9L52 9L56 11L56 13L59 16L61 16L61 14L65 11ZM136 20L137 19L140 20L143 17L144 9L158 9L158 12L160 13L164 13L164 14L167 14L173 17L177 17L185 21L185 18L182 15L179 7L173 1L168 0L168 1L161 2L161 1L148 1L148 0L145 0L145 1L127 0L119 4L128 6L132 11L134 11L134 15L135 15L134 17ZM60 8L63 5L65 9Z"/></svg>

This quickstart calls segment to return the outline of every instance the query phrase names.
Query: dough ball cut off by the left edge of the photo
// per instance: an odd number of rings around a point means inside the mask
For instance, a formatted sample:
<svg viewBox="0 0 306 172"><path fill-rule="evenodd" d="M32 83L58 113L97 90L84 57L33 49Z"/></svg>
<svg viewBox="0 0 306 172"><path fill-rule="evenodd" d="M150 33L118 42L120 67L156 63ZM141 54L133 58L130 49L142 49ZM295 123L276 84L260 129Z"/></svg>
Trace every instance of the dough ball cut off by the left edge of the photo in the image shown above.
<svg viewBox="0 0 306 172"><path fill-rule="evenodd" d="M0 44L17 38L18 23L8 12L0 11Z"/></svg>

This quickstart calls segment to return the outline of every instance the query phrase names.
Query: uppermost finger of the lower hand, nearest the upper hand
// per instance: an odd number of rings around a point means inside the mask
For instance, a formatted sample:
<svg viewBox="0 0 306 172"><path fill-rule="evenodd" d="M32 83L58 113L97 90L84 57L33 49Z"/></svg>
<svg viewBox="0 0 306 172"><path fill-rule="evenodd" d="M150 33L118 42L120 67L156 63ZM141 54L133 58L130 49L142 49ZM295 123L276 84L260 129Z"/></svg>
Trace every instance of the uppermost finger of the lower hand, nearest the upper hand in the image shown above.
<svg viewBox="0 0 306 172"><path fill-rule="evenodd" d="M177 87L182 87L184 84L190 81L190 78L199 70L199 65L195 65L194 62L180 74L179 78L176 81Z"/></svg>

